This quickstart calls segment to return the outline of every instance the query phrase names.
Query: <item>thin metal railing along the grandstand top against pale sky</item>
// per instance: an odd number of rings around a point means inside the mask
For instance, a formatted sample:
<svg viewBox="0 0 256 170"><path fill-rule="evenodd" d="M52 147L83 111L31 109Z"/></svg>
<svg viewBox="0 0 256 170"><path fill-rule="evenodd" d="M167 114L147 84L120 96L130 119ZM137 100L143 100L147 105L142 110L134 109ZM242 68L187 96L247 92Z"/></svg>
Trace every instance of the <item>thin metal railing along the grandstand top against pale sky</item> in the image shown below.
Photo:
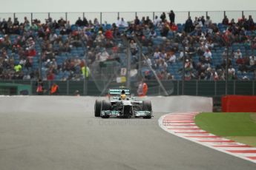
<svg viewBox="0 0 256 170"><path fill-rule="evenodd" d="M124 18L126 21L134 21L135 16L142 18L142 16L148 16L151 20L155 16L161 15L163 12L77 12L77 13L0 13L1 20L5 18L18 18L20 22L24 21L24 17L27 17L29 21L33 19L39 19L42 23L45 22L47 18L53 18L53 20L59 20L59 18L64 18L66 21L70 21L70 24L74 24L78 17L86 17L88 20L93 21L94 18L99 20L100 24L112 24L116 22L117 17ZM166 12L166 18L168 19L168 12ZM256 18L256 10L246 10L246 11L174 11L175 13L175 22L176 23L185 23L188 16L191 16L192 20L194 17L200 16L210 16L211 21L214 23L222 22L224 16L227 16L229 20L234 18L234 21L237 21L238 18L241 18L243 15L248 18L250 15L252 18Z"/></svg>

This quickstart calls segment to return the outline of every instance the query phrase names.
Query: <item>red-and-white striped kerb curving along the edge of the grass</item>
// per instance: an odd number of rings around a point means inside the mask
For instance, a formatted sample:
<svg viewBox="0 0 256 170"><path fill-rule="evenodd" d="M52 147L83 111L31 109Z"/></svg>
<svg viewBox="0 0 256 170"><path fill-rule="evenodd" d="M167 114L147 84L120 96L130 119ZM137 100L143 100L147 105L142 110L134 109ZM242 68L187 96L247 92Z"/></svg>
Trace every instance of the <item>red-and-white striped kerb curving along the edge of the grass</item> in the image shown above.
<svg viewBox="0 0 256 170"><path fill-rule="evenodd" d="M218 137L200 129L194 123L194 118L198 113L199 112L183 112L167 114L163 115L158 120L158 123L162 129L172 135L256 163L255 147L237 143L224 137Z"/></svg>

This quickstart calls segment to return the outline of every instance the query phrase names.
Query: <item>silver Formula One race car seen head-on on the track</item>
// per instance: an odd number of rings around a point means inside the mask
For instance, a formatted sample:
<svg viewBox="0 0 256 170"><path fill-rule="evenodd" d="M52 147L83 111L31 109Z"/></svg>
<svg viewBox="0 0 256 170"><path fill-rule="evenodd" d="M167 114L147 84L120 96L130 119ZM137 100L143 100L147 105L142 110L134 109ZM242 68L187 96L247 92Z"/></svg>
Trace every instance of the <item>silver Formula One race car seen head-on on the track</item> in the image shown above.
<svg viewBox="0 0 256 170"><path fill-rule="evenodd" d="M109 89L108 100L95 101L95 117L151 118L151 101L131 98L130 89Z"/></svg>

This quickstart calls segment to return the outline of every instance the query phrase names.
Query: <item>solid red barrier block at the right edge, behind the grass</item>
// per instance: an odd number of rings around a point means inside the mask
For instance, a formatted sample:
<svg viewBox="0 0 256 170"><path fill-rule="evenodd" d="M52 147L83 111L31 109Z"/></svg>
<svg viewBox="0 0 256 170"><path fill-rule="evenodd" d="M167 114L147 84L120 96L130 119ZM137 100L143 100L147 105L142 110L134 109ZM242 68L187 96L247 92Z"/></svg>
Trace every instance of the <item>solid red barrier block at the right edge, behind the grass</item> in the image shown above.
<svg viewBox="0 0 256 170"><path fill-rule="evenodd" d="M256 112L256 96L226 95L221 101L223 112Z"/></svg>

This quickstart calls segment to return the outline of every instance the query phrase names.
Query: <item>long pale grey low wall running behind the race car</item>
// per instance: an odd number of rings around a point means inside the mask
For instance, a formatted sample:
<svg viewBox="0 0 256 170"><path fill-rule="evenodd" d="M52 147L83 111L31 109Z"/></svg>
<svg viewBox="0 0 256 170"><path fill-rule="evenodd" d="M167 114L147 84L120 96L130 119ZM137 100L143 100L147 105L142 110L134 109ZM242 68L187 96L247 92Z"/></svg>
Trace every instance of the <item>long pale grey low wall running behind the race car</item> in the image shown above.
<svg viewBox="0 0 256 170"><path fill-rule="evenodd" d="M105 97L91 96L0 96L0 113L77 112L93 116L95 100ZM212 98L194 96L143 97L149 100L157 112L212 112Z"/></svg>

